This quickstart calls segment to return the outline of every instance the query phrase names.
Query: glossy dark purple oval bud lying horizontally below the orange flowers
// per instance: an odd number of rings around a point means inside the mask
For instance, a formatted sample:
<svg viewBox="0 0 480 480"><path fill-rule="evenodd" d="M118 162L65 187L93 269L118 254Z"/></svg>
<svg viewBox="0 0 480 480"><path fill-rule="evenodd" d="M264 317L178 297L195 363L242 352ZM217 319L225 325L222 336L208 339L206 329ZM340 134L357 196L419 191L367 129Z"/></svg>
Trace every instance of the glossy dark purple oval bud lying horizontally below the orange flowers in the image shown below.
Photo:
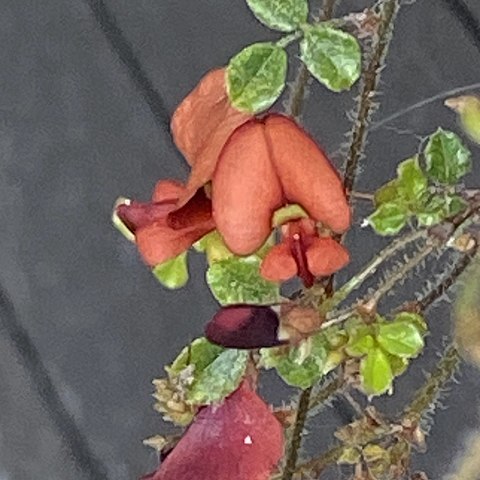
<svg viewBox="0 0 480 480"><path fill-rule="evenodd" d="M227 348L262 348L282 345L278 339L280 320L266 306L230 305L221 308L207 323L205 336Z"/></svg>

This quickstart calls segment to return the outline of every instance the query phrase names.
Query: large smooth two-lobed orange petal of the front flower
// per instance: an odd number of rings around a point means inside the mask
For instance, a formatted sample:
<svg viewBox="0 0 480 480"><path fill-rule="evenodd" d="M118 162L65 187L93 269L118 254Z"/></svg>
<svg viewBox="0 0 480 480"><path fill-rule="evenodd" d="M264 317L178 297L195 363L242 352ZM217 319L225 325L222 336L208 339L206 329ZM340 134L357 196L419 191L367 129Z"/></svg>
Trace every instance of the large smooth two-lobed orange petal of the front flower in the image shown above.
<svg viewBox="0 0 480 480"><path fill-rule="evenodd" d="M232 252L251 254L288 203L334 232L350 225L340 177L313 139L283 115L249 120L229 138L212 177L217 228Z"/></svg>

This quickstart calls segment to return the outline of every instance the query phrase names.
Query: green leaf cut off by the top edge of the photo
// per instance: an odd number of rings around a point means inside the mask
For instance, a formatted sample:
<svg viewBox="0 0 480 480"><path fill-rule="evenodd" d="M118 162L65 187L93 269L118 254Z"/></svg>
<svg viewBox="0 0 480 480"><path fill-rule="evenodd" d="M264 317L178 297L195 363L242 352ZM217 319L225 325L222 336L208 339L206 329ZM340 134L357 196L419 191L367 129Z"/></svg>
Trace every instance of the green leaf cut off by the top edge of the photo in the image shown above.
<svg viewBox="0 0 480 480"><path fill-rule="evenodd" d="M258 20L272 30L292 32L308 18L307 0L247 0L247 4Z"/></svg>

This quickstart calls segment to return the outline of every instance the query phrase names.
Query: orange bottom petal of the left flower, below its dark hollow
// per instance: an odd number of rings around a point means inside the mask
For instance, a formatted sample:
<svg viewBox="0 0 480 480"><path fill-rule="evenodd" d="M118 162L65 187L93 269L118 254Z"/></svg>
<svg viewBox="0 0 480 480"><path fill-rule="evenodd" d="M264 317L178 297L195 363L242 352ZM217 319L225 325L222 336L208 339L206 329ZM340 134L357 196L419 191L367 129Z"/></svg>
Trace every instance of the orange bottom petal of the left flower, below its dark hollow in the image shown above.
<svg viewBox="0 0 480 480"><path fill-rule="evenodd" d="M191 228L174 230L164 222L156 222L139 229L135 241L144 261L155 266L177 257L215 228L204 222Z"/></svg>

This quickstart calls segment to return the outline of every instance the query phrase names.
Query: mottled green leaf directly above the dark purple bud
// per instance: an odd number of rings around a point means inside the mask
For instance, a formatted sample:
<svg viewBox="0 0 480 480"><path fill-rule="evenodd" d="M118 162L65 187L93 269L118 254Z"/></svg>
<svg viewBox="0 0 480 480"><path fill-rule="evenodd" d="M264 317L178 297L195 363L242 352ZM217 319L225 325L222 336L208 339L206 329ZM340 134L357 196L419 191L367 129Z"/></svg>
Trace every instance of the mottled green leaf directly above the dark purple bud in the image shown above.
<svg viewBox="0 0 480 480"><path fill-rule="evenodd" d="M235 303L271 304L279 300L277 283L260 276L257 256L231 257L210 265L207 283L221 305Z"/></svg>

